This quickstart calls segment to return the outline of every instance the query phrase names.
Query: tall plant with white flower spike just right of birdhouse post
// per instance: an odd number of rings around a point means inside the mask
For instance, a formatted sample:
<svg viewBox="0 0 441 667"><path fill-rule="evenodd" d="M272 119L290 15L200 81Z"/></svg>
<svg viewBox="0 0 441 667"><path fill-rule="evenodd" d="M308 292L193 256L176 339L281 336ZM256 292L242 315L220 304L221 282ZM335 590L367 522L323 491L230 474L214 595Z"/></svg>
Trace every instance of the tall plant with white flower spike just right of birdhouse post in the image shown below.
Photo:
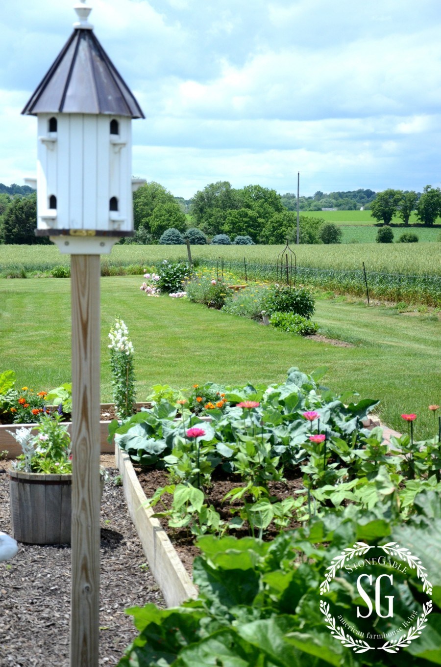
<svg viewBox="0 0 441 667"><path fill-rule="evenodd" d="M115 324L110 330L109 345L111 355L111 372L113 401L115 410L120 419L125 419L133 414L135 403L135 375L133 373L133 344L129 338L129 329L122 319L115 319Z"/></svg>

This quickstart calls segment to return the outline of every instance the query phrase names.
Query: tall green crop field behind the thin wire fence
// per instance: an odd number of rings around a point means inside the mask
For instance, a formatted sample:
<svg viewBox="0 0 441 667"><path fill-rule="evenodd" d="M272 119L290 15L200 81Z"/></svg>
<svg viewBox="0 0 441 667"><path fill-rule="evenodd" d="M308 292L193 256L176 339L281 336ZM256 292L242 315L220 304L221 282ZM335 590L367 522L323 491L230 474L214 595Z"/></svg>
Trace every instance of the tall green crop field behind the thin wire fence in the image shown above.
<svg viewBox="0 0 441 667"><path fill-rule="evenodd" d="M213 270L224 267L240 279L276 280L282 245L197 245L193 259ZM441 305L441 253L438 243L364 243L292 246L296 281L340 293L363 295L363 263L370 296ZM161 271L164 259L187 259L183 245L117 245L101 257L102 275L141 275ZM0 277L26 277L69 267L69 256L53 246L0 245ZM63 273L63 271L61 271Z"/></svg>

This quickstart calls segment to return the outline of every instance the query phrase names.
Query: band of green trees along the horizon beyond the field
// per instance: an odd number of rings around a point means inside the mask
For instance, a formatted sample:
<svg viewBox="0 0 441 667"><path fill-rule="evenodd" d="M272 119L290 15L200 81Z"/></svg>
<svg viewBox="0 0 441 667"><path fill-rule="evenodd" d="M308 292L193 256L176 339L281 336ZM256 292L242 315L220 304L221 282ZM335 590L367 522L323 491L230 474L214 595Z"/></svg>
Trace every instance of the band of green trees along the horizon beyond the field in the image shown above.
<svg viewBox="0 0 441 667"><path fill-rule="evenodd" d="M369 189L300 197L300 211L323 208L354 210L369 207L372 217L388 225L394 215L408 225L413 210L422 224L431 226L441 216L441 191L426 185L422 193ZM324 205L332 204L336 205ZM151 181L133 193L135 236L125 243L169 243L165 239L191 239L205 243L284 243L296 238L296 197L278 194L262 185L234 188L228 181L209 183L193 199L175 197L163 185ZM35 237L37 195L27 185L0 183L0 243L49 243ZM300 243L338 243L341 231L317 215L300 215ZM161 239L163 239L161 241ZM228 240L229 239L229 240ZM181 241L179 241L181 242Z"/></svg>

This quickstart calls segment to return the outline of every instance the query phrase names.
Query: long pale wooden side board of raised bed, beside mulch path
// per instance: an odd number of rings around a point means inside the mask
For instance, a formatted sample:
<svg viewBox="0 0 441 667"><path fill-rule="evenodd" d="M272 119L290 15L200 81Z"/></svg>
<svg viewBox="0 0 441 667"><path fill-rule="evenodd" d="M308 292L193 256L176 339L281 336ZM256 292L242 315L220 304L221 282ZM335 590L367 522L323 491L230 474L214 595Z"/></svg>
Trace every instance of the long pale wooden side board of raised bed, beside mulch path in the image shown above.
<svg viewBox="0 0 441 667"><path fill-rule="evenodd" d="M167 606L179 606L184 600L197 598L197 589L193 586L167 533L159 520L153 518L155 511L145 505L147 498L138 482L129 455L119 447L115 448L115 465L123 478L129 515L137 529L143 552Z"/></svg>

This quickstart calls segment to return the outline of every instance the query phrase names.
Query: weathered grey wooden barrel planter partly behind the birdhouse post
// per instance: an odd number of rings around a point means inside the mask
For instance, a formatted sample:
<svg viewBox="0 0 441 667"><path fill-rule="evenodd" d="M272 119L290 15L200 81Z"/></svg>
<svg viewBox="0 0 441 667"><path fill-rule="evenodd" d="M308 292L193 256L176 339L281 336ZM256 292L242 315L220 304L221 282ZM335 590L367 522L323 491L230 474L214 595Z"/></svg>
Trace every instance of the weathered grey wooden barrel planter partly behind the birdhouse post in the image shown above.
<svg viewBox="0 0 441 667"><path fill-rule="evenodd" d="M104 478L101 475L101 496ZM27 544L71 544L72 475L9 470L12 535Z"/></svg>

